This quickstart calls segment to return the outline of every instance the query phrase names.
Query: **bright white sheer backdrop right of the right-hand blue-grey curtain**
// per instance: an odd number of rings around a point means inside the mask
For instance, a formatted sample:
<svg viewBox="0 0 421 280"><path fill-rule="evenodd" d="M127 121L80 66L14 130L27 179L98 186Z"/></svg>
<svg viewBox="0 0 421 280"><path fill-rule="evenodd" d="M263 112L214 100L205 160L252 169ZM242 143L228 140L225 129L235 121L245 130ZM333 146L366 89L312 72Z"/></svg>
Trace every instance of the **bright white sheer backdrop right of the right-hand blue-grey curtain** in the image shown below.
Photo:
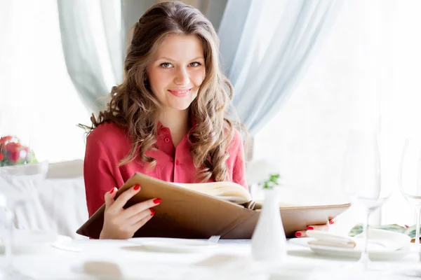
<svg viewBox="0 0 421 280"><path fill-rule="evenodd" d="M255 158L276 162L286 200L339 198L348 132L371 127L381 132L382 183L393 188L373 222L415 223L397 178L403 139L421 130L419 10L417 0L344 1L301 83L255 137ZM352 226L359 214L338 223Z"/></svg>

